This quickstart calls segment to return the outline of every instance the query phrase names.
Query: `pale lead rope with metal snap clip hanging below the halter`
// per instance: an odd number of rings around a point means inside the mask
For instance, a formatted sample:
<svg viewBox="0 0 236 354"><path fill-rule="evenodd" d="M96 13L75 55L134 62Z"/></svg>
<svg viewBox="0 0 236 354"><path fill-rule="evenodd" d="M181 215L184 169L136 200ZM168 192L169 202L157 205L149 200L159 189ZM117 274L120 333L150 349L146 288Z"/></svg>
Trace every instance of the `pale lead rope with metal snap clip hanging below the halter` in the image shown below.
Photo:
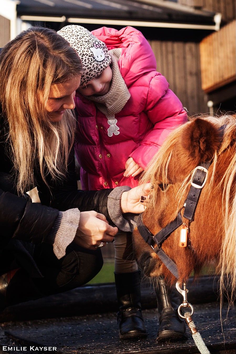
<svg viewBox="0 0 236 354"><path fill-rule="evenodd" d="M179 285L179 282L176 283L176 289L183 296L183 303L180 304L180 306L178 308L178 315L179 315L180 318L184 318L186 324L189 326L190 332L192 334L192 338L193 338L193 340L194 340L199 352L201 354L211 354L209 352L209 350L207 349L206 344L203 342L203 339L202 339L200 333L198 332L197 327L194 324L194 321L192 320L192 314L194 313L194 308L187 301L188 289L186 289L185 283L183 283L183 285L184 285L184 289L181 289L180 285ZM185 312L184 315L182 315L182 313L180 312L180 309L182 307L185 307L185 308L189 307L191 309L191 313L190 312Z"/></svg>

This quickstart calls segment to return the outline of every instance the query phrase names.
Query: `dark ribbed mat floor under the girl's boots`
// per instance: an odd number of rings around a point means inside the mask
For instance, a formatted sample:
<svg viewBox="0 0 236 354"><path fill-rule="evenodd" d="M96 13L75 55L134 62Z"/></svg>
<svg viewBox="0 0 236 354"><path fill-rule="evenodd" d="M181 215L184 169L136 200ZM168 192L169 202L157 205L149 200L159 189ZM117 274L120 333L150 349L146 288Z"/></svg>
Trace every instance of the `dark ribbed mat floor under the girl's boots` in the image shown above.
<svg viewBox="0 0 236 354"><path fill-rule="evenodd" d="M230 310L227 318L227 305L223 306L223 336L219 306L216 303L209 303L194 307L195 325L210 352L236 353L235 311ZM21 328L19 326L12 327L10 330L6 328L5 334L27 348L30 345L56 346L57 353L63 354L198 353L189 329L187 329L189 339L185 343L157 344L156 311L155 309L144 310L143 315L148 331L148 338L144 340L121 341L118 337L114 313L28 321L24 322Z"/></svg>

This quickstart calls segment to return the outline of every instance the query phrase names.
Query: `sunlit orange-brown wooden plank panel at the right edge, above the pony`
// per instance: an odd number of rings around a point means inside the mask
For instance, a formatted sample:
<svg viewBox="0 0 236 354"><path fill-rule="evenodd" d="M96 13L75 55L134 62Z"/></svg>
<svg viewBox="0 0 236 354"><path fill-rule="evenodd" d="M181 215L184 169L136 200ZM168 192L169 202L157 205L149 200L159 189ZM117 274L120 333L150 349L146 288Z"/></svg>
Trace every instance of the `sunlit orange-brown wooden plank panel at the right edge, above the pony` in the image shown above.
<svg viewBox="0 0 236 354"><path fill-rule="evenodd" d="M236 79L236 21L200 43L202 89L210 92Z"/></svg>

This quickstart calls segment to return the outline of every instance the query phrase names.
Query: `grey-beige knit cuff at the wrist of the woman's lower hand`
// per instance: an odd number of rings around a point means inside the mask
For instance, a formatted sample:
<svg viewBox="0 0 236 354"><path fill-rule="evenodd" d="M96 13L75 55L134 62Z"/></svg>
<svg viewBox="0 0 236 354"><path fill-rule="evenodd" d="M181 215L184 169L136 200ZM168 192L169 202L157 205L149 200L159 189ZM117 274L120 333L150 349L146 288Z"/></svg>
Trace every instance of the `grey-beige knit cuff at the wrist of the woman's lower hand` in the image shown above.
<svg viewBox="0 0 236 354"><path fill-rule="evenodd" d="M65 256L67 246L74 240L80 222L79 209L59 211L47 242L53 245L53 252L58 259Z"/></svg>

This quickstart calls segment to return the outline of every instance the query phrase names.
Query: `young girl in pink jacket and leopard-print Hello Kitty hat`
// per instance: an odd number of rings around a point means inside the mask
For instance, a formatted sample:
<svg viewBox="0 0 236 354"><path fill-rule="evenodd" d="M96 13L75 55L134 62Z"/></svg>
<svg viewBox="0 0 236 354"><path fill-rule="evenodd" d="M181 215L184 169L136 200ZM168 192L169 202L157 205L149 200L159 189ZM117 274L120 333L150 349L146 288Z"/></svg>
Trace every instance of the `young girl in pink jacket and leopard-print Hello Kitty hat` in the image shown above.
<svg viewBox="0 0 236 354"><path fill-rule="evenodd" d="M75 152L82 188L136 186L171 129L187 120L181 102L156 72L154 53L138 30L103 27L90 33L69 25L58 33L77 51L84 68L75 97ZM137 265L127 258L130 248L129 235L115 237L121 338L143 333ZM136 302L127 301L132 297ZM184 339L185 331L179 326L179 338Z"/></svg>

